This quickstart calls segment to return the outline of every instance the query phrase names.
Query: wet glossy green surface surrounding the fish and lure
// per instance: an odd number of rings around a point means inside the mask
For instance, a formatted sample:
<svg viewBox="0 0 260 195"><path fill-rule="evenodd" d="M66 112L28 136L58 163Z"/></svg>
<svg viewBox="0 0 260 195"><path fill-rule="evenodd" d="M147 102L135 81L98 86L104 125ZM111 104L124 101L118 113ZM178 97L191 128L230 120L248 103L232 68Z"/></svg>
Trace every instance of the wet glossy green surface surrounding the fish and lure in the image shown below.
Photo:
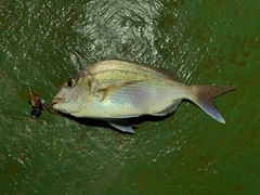
<svg viewBox="0 0 260 195"><path fill-rule="evenodd" d="M0 194L259 194L260 2L66 0L0 2ZM222 125L182 103L135 134L47 112L100 60L166 67L185 83L231 84Z"/></svg>

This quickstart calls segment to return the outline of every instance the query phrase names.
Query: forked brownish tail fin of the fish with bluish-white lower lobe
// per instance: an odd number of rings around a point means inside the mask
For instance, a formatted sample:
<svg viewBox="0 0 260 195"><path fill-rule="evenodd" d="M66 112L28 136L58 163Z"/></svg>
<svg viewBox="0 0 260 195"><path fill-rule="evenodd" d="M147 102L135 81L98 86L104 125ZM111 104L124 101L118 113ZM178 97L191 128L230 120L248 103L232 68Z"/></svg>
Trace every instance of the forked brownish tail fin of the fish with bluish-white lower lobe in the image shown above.
<svg viewBox="0 0 260 195"><path fill-rule="evenodd" d="M216 108L212 100L223 93L233 91L234 88L229 86L198 86L193 84L193 94L190 100L199 106L205 113L218 120L219 122L225 123L224 119Z"/></svg>

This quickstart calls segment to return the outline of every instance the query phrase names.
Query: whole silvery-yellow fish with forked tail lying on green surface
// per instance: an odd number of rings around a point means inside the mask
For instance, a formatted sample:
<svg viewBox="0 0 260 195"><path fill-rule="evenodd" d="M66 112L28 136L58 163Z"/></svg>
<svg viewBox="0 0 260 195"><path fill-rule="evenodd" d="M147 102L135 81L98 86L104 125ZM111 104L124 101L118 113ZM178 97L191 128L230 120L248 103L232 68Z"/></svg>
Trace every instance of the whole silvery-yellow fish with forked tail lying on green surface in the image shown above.
<svg viewBox="0 0 260 195"><path fill-rule="evenodd" d="M233 90L230 86L185 84L154 66L106 60L84 67L65 81L52 100L52 107L74 117L105 120L122 132L134 133L128 118L166 116L182 100L225 123L212 100Z"/></svg>

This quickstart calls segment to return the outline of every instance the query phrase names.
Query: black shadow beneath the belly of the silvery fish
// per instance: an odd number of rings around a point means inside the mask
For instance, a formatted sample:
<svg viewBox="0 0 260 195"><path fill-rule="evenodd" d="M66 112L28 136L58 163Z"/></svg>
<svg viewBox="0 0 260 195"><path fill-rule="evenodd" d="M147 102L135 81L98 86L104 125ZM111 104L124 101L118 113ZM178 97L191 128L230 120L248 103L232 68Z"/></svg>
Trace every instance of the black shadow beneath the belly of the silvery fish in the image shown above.
<svg viewBox="0 0 260 195"><path fill-rule="evenodd" d="M143 115L143 116L140 116L140 117L127 118L126 120L132 126L133 130L138 130L138 125L140 125L140 123L143 123L145 121L154 121L154 122L155 121L162 121L166 118L172 116L174 113L176 112L169 113L166 116ZM122 131L112 127L110 125L108 125L108 122L106 122L105 120L102 120L102 119L78 118L78 117L75 117L75 116L69 115L69 114L62 114L62 116L67 118L67 119L74 120L74 121L76 121L80 125L83 125L83 126L109 128L109 129L113 129L113 130L118 131L118 132L123 133L123 134L131 134L129 132L122 132Z"/></svg>

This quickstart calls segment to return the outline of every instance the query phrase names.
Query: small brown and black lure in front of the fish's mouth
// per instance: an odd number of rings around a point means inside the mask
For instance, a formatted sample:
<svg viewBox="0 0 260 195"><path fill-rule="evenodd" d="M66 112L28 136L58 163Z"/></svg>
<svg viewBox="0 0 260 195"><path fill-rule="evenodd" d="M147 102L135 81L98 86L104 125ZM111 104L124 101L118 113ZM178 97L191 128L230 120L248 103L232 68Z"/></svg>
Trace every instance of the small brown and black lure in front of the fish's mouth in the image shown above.
<svg viewBox="0 0 260 195"><path fill-rule="evenodd" d="M30 115L34 118L39 118L42 110L42 103L40 96L31 88L29 88L29 105L32 108Z"/></svg>

